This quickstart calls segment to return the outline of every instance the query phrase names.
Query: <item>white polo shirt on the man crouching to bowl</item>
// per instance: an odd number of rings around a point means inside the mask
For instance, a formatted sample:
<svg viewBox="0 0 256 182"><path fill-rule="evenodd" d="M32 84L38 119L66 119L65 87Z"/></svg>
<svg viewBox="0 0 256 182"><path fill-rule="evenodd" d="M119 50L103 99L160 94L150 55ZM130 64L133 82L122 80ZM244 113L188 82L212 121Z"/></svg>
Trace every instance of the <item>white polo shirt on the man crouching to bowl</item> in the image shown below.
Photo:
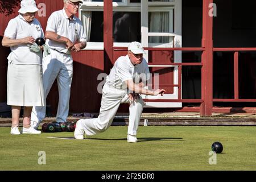
<svg viewBox="0 0 256 182"><path fill-rule="evenodd" d="M143 58L141 64L133 65L129 56L121 56L115 61L113 68L106 77L106 83L115 89L126 89L123 82L126 80L134 80L136 84L139 80L146 81L150 78L147 61Z"/></svg>

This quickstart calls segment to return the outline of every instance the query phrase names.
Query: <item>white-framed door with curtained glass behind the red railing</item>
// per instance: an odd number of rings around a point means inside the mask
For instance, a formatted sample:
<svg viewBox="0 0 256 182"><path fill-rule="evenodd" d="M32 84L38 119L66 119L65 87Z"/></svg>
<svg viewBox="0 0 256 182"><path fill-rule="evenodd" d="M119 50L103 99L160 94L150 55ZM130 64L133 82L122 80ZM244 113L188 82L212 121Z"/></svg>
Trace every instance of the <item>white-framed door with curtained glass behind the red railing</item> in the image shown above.
<svg viewBox="0 0 256 182"><path fill-rule="evenodd" d="M154 2L141 1L141 22L142 22L142 45L143 47L182 47L182 36L181 36L181 11L182 11L182 0L173 0L168 2L173 4L173 6L161 7L160 9L151 9L151 5ZM167 2L163 2L166 3ZM150 20L148 20L150 18ZM167 22L168 21L168 22ZM154 26L148 24L154 24ZM160 22L160 23L159 23ZM159 30L159 24L160 29ZM154 30L155 27L155 30ZM168 32L166 31L168 30ZM165 37L165 38L163 38ZM155 39L155 41L154 41ZM158 41L162 39L162 41ZM163 39L165 39L163 41ZM153 40L153 41L152 41ZM169 40L169 41L166 41ZM147 55L144 56L148 60ZM154 62L153 62L154 63ZM181 51L174 51L174 63L181 63ZM174 76L173 84L178 84L178 68L177 66L160 66L160 65L150 65L150 67L173 67ZM146 99L177 99L178 98L178 88L174 87L172 93L164 94L164 96L145 96ZM145 107L182 107L181 102L146 102Z"/></svg>

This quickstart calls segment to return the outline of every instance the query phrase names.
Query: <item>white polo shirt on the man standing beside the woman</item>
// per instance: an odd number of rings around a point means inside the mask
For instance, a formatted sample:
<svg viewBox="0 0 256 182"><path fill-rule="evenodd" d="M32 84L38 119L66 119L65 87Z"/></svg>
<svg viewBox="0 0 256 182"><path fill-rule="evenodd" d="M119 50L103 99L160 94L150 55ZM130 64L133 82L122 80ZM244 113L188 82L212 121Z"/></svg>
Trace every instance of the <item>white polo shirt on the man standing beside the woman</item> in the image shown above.
<svg viewBox="0 0 256 182"><path fill-rule="evenodd" d="M53 12L47 21L46 31L55 32L60 36L64 36L75 43L77 40L79 42L86 42L86 34L84 27L82 27L82 22L75 15L72 20L68 19L65 10L59 10ZM70 53L64 42L56 42L54 40L46 40L46 44L57 51Z"/></svg>

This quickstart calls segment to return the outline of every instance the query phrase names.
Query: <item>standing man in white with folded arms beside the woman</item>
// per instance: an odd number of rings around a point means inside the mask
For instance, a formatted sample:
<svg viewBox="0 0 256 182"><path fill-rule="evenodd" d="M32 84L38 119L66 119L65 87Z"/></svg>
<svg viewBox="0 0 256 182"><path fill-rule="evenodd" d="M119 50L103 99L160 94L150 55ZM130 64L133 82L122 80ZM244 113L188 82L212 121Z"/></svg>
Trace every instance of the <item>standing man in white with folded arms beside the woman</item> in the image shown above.
<svg viewBox="0 0 256 182"><path fill-rule="evenodd" d="M51 54L43 57L43 85L47 97L55 79L59 89L59 105L56 121L66 122L69 111L69 97L73 76L71 51L79 52L86 47L86 35L81 21L75 16L79 0L64 0L64 9L49 16L46 27L46 44ZM46 106L33 107L31 126L35 129L46 115Z"/></svg>

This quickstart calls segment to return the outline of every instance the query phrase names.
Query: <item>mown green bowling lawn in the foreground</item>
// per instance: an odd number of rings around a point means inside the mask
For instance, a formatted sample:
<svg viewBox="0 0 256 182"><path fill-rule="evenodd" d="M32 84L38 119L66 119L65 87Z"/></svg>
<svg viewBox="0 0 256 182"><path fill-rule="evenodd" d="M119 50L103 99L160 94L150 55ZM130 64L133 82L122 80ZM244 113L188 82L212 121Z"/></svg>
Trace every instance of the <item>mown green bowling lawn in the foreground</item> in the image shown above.
<svg viewBox="0 0 256 182"><path fill-rule="evenodd" d="M0 128L0 170L255 170L256 127L139 126L138 143L127 143L127 126L111 126L85 140L73 133L10 135ZM223 144L209 164L213 142ZM39 151L46 164L39 165Z"/></svg>

